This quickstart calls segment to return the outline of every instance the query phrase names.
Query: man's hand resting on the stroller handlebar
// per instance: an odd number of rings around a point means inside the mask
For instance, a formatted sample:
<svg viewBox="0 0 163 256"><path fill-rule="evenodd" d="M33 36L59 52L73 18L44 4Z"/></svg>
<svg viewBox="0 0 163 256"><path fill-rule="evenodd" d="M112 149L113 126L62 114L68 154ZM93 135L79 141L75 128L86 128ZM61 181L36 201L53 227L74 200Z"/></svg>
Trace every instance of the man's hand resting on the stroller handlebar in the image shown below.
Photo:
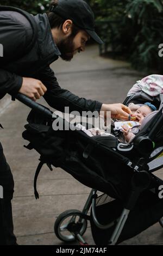
<svg viewBox="0 0 163 256"><path fill-rule="evenodd" d="M40 97L43 96L46 91L46 87L40 80L30 77L23 77L22 87L18 92L36 101L37 99L40 99Z"/></svg>

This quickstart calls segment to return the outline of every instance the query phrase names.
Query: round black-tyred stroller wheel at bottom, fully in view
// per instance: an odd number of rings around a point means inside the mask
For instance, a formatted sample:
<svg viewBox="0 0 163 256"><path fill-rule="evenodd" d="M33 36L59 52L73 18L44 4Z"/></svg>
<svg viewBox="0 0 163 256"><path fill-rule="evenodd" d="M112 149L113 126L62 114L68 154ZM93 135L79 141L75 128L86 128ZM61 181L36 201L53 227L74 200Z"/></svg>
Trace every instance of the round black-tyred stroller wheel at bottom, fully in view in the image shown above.
<svg viewBox="0 0 163 256"><path fill-rule="evenodd" d="M83 218L79 210L67 210L62 212L54 223L55 235L64 242L76 240L74 233L83 235L87 228L87 220Z"/></svg>

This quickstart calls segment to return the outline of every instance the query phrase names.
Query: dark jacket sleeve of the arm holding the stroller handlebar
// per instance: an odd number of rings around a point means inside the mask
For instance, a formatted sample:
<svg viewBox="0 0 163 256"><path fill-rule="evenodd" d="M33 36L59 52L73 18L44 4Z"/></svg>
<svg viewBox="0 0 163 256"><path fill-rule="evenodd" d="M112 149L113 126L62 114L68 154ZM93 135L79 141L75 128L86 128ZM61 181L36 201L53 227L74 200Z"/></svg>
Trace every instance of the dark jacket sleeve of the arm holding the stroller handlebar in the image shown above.
<svg viewBox="0 0 163 256"><path fill-rule="evenodd" d="M5 61L23 52L28 44L30 27L18 22L18 15L12 11L0 12L0 43L3 46L3 57L0 58L0 99L8 92L17 93L22 86L22 77L5 69Z"/></svg>

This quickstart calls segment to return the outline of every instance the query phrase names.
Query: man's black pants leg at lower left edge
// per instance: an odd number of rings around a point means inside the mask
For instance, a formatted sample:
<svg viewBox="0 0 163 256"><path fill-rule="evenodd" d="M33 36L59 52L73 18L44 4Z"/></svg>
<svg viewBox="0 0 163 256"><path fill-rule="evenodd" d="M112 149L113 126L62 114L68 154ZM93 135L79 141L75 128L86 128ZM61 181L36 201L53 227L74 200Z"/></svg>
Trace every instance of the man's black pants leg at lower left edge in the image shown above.
<svg viewBox="0 0 163 256"><path fill-rule="evenodd" d="M0 143L0 245L16 245L13 233L11 199L14 193L14 180L10 167L5 160ZM3 194L2 194L3 191Z"/></svg>

